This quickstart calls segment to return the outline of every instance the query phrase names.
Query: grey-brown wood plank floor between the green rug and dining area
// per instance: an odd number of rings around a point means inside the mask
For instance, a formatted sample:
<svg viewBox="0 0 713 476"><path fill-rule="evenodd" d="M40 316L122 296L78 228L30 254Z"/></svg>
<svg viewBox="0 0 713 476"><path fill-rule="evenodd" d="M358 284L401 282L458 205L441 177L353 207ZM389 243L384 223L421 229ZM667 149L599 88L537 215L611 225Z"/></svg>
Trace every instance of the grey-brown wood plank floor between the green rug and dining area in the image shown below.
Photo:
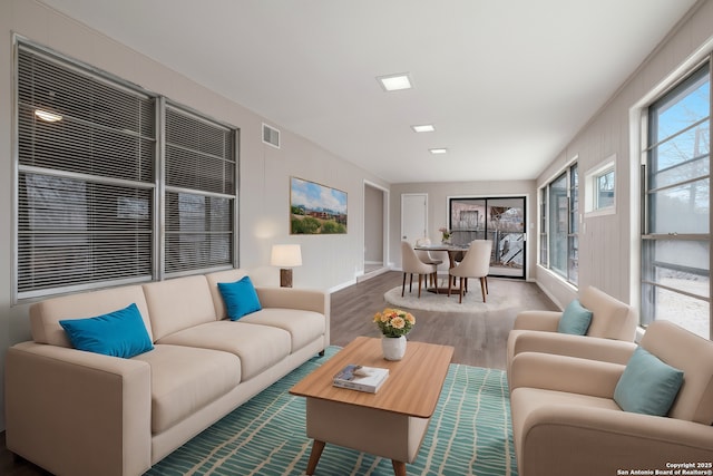
<svg viewBox="0 0 713 476"><path fill-rule="evenodd" d="M400 286L401 279L400 272L390 271L333 293L332 344L345 346L358 336L379 337L379 331L372 322L373 314L387 307L383 293ZM534 283L489 278L488 288L490 294L512 298L512 307L478 315L410 310L417 322L409 340L453 346L455 363L504 369L507 336L517 312L526 309L556 310L557 307ZM47 476L49 473L13 457L6 448L2 431L0 475Z"/></svg>

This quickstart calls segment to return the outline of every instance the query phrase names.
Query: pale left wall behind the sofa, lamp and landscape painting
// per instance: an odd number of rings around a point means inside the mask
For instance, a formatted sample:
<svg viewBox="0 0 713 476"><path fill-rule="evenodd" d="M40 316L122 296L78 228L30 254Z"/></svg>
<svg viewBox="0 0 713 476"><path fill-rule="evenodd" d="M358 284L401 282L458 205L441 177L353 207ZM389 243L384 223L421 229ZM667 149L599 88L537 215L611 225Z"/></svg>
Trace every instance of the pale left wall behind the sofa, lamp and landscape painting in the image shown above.
<svg viewBox="0 0 713 476"><path fill-rule="evenodd" d="M107 70L150 91L229 123L241 129L241 266L255 269L257 280L277 285L277 270L267 266L273 243L300 243L303 266L294 270L299 288L334 289L363 272L363 183L388 184L318 145L282 128L282 148L262 143L268 119L191 81L156 61L32 0L0 1L0 368L12 343L30 338L28 307L11 303L12 268L12 32L64 55ZM348 193L345 235L290 235L290 176ZM4 408L0 383L0 406ZM0 412L0 429L4 428Z"/></svg>

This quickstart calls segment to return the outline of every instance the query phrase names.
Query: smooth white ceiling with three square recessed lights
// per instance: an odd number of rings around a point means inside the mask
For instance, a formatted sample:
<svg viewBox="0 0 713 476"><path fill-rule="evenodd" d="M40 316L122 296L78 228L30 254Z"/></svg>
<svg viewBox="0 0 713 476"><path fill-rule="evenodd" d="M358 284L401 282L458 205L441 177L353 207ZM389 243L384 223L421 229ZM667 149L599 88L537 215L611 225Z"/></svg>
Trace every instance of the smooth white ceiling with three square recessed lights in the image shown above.
<svg viewBox="0 0 713 476"><path fill-rule="evenodd" d="M537 177L695 3L41 1L390 183Z"/></svg>

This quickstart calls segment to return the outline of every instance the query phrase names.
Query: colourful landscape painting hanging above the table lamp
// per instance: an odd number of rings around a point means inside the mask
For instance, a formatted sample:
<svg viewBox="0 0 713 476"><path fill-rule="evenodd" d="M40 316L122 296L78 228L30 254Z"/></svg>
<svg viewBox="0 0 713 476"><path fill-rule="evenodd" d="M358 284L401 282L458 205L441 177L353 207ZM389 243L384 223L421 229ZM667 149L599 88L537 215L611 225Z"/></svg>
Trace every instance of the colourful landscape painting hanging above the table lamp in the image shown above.
<svg viewBox="0 0 713 476"><path fill-rule="evenodd" d="M290 233L346 233L346 192L290 177Z"/></svg>

